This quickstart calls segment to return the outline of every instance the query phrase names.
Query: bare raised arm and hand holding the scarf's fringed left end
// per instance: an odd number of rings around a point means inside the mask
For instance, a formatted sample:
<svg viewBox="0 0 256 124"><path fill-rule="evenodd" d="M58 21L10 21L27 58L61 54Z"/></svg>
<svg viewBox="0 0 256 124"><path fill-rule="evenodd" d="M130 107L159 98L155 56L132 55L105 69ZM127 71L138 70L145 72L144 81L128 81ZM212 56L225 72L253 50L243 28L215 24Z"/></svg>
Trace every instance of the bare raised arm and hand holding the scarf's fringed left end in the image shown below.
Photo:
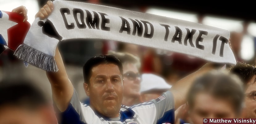
<svg viewBox="0 0 256 124"><path fill-rule="evenodd" d="M48 1L46 5L39 10L35 17L40 19L47 18L53 10L53 3ZM68 79L64 63L58 48L55 51L55 61L59 69L58 72L46 72L52 87L52 97L60 111L65 111L73 95L73 85Z"/></svg>

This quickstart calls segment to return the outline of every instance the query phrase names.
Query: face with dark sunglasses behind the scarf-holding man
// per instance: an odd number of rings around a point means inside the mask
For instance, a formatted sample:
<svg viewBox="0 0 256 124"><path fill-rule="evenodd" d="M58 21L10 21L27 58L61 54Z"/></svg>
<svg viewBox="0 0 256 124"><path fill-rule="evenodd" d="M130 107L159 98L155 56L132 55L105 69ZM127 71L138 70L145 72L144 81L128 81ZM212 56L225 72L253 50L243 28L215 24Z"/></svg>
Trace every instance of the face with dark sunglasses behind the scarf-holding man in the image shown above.
<svg viewBox="0 0 256 124"><path fill-rule="evenodd" d="M138 68L135 64L127 63L123 66L124 70L124 96L139 97L140 77Z"/></svg>

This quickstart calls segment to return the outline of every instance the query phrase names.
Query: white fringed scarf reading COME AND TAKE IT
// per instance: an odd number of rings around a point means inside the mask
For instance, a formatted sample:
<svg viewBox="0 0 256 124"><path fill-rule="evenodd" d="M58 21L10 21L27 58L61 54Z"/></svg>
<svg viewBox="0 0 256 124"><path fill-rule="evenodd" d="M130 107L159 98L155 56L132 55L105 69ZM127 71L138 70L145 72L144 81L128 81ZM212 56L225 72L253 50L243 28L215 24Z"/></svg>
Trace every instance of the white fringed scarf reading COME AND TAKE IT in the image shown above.
<svg viewBox="0 0 256 124"><path fill-rule="evenodd" d="M55 0L53 4L52 14L45 20L35 19L23 45L14 53L46 71L58 71L54 60L57 43L76 38L122 41L236 63L228 30L85 2Z"/></svg>

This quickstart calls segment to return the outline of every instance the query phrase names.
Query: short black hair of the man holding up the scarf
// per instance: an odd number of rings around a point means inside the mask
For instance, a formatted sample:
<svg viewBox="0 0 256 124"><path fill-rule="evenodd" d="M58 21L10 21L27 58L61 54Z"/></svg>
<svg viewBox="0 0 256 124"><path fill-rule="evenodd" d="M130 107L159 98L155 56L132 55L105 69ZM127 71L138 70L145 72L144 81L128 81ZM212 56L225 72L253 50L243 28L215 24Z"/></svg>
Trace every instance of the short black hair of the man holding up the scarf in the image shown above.
<svg viewBox="0 0 256 124"><path fill-rule="evenodd" d="M90 77L92 75L92 68L100 65L100 64L115 64L118 66L122 76L123 76L123 67L120 60L114 55L101 55L101 56L94 56L90 58L83 67L84 73L84 80L85 83L89 84ZM111 71L111 70L109 70Z"/></svg>

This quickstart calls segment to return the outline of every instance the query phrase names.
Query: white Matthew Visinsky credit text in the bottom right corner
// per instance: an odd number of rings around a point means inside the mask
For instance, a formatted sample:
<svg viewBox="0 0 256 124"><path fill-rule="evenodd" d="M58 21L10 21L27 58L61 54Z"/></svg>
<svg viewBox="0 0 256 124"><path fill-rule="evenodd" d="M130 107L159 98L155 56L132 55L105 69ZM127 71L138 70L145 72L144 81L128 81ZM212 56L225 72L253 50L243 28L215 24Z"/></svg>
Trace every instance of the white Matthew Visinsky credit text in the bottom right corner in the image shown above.
<svg viewBox="0 0 256 124"><path fill-rule="evenodd" d="M238 124L238 123L249 123L254 124L256 119L252 118L233 118L233 119L216 119L210 118L209 123L231 123L231 124Z"/></svg>

